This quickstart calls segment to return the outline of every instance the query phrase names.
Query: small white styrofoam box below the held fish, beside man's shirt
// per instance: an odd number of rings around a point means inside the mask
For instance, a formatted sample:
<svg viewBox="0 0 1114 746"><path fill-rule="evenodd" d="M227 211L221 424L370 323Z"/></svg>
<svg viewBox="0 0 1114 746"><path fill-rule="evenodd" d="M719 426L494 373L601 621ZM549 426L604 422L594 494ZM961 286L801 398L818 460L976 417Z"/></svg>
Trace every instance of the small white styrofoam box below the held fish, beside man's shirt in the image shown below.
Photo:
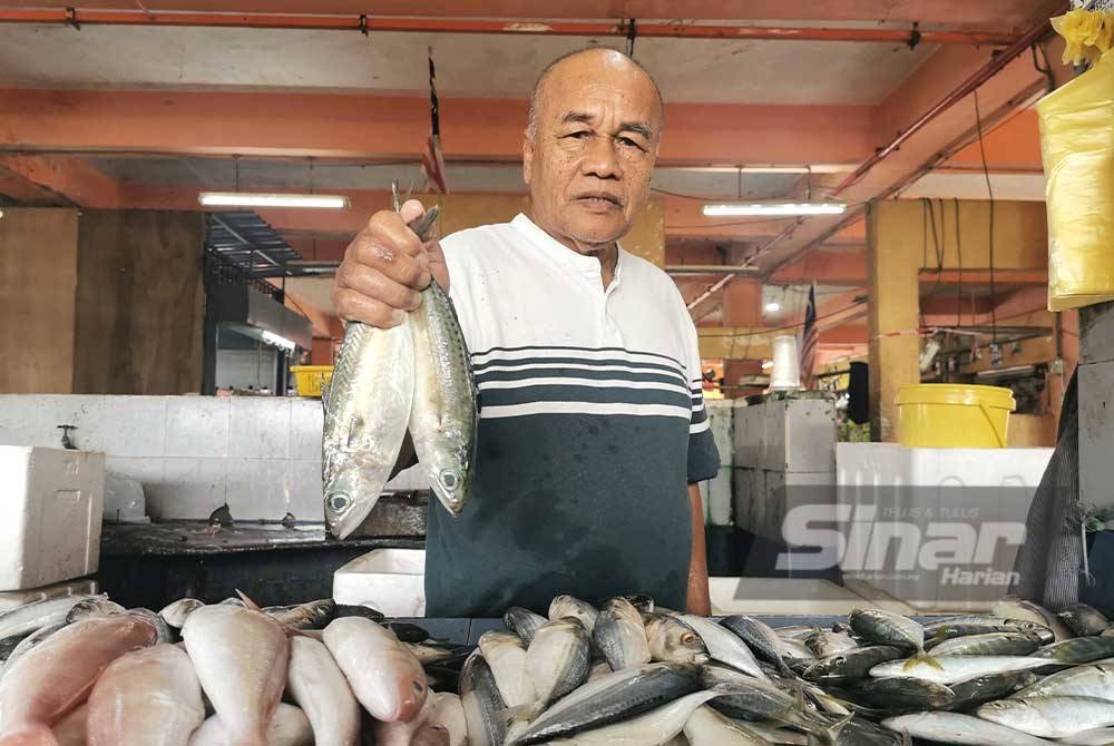
<svg viewBox="0 0 1114 746"><path fill-rule="evenodd" d="M333 573L333 599L388 617L426 616L426 550L372 549Z"/></svg>

